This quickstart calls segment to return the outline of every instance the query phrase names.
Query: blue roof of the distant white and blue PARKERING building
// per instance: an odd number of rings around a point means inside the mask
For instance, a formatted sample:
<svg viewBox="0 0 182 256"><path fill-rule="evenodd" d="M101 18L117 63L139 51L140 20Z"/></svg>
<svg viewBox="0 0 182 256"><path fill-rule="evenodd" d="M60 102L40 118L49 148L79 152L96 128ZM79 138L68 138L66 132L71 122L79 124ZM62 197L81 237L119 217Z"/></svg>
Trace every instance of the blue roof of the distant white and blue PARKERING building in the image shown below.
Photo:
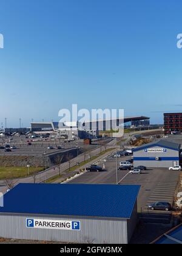
<svg viewBox="0 0 182 256"><path fill-rule="evenodd" d="M140 151L142 149L152 148L155 146L160 146L161 148L168 148L168 149L173 149L175 151L179 151L181 144L174 143L174 142L167 141L167 140L158 140L158 141L144 144L138 148L133 149L133 151Z"/></svg>

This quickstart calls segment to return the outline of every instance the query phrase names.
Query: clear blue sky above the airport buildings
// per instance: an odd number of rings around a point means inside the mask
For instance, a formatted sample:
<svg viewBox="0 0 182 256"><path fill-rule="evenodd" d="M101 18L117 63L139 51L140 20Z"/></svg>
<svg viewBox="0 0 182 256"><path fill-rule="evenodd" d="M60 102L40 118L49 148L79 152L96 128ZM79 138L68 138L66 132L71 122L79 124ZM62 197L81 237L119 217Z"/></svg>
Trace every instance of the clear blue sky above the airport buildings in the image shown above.
<svg viewBox="0 0 182 256"><path fill-rule="evenodd" d="M181 112L180 0L1 0L0 122L59 120L60 108Z"/></svg>

